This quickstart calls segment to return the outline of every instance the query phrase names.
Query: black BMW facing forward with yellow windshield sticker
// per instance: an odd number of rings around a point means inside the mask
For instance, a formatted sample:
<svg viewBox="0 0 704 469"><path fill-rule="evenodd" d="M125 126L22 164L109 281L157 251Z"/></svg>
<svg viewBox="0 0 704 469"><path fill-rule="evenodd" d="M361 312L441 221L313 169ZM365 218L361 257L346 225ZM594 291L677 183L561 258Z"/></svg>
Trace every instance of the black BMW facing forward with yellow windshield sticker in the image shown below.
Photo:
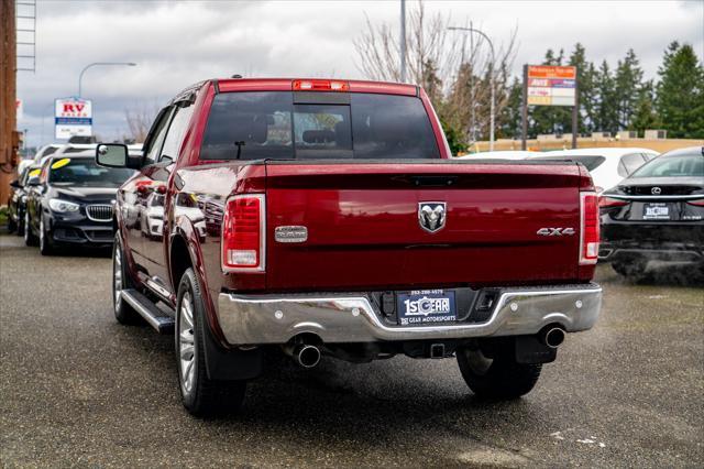
<svg viewBox="0 0 704 469"><path fill-rule="evenodd" d="M44 255L62 246L111 246L116 194L133 174L98 166L92 151L52 156L26 183L25 243Z"/></svg>

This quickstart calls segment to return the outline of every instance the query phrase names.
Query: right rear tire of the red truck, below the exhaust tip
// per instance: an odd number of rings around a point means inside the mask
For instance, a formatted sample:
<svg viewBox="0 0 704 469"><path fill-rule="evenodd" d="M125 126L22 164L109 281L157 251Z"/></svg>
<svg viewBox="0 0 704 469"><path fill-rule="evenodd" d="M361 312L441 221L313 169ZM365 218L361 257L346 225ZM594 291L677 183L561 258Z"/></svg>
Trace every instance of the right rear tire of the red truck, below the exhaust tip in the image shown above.
<svg viewBox="0 0 704 469"><path fill-rule="evenodd" d="M464 382L482 399L504 401L528 394L542 369L541 364L517 363L513 353L490 359L481 350L460 349L457 355Z"/></svg>

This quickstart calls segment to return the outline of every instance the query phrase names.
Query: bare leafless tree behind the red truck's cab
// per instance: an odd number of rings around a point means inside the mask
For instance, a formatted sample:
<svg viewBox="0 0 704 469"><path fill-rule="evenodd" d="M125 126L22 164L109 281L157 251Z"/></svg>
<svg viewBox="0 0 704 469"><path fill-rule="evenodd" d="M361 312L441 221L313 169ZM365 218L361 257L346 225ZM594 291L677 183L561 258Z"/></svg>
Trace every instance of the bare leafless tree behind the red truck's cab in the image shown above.
<svg viewBox="0 0 704 469"><path fill-rule="evenodd" d="M491 74L496 84L497 117L507 103L517 30L506 43L498 44L492 57L481 36L449 31L451 25L457 23L450 14L429 15L422 2L415 4L406 28L407 75L409 81L424 87L446 124L462 133L465 142L472 142L488 134ZM400 79L398 34L388 23L375 25L367 17L366 30L354 46L358 68L366 77Z"/></svg>

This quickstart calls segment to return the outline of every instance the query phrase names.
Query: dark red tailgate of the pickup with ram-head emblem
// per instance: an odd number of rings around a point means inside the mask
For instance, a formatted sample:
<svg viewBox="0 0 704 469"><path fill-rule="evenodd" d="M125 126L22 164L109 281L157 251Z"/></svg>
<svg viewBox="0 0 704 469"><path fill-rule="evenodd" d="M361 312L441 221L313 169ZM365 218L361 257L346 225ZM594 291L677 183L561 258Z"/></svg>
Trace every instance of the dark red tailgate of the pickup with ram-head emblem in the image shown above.
<svg viewBox="0 0 704 469"><path fill-rule="evenodd" d="M579 183L578 166L564 163L267 163L267 288L576 280ZM443 228L421 227L424 203L446 204ZM307 240L276 241L286 226L306 227ZM573 234L541 236L542 228Z"/></svg>

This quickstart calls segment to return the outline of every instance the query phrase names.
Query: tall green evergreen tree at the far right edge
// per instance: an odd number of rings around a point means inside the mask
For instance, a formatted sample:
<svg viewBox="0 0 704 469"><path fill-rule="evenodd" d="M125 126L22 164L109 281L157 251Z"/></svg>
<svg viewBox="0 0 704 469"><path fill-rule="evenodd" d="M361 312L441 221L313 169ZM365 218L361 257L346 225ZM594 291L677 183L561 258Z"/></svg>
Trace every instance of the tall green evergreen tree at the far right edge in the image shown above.
<svg viewBox="0 0 704 469"><path fill-rule="evenodd" d="M704 69L692 46L672 42L658 75L657 109L668 137L704 138Z"/></svg>

